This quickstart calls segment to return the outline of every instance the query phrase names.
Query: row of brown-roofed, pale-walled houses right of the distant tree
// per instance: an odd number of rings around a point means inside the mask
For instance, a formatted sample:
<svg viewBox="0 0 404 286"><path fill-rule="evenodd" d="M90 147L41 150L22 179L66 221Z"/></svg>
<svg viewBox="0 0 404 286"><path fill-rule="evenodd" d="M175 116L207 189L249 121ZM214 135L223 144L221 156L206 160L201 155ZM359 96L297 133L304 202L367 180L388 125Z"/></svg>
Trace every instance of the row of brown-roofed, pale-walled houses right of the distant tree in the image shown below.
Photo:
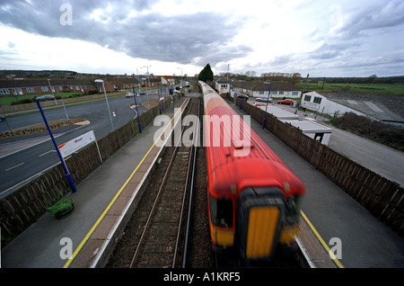
<svg viewBox="0 0 404 286"><path fill-rule="evenodd" d="M268 96L269 83L257 81L234 82L233 91L238 94L247 94L253 97ZM288 83L272 83L271 97L287 97L287 98L300 98L302 91L294 85Z"/></svg>

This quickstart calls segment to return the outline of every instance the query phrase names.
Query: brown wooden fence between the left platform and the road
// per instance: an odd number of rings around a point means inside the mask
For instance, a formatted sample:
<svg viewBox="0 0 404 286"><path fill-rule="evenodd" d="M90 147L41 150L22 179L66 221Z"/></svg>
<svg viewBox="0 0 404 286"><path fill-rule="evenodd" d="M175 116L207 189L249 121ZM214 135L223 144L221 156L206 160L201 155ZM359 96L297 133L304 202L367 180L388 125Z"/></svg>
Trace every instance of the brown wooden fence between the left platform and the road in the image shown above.
<svg viewBox="0 0 404 286"><path fill-rule="evenodd" d="M162 110L167 108L171 108L169 99L162 103ZM159 114L158 105L143 113L139 118L141 127L153 122L154 117ZM107 160L138 132L137 119L135 119L98 140L102 159ZM95 144L85 147L77 154L67 158L66 165L75 184L82 182L87 175L101 165L97 147ZM47 211L49 206L55 204L68 192L70 192L70 187L66 181L63 167L59 164L0 200L2 247L22 233L25 228L31 226Z"/></svg>

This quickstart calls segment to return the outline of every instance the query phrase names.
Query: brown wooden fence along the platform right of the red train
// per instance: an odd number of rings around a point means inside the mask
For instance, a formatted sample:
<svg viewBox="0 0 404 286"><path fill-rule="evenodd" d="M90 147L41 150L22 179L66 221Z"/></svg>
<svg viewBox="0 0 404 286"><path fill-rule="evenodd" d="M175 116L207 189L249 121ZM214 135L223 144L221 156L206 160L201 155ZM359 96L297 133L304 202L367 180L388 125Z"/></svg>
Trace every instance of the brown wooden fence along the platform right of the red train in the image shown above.
<svg viewBox="0 0 404 286"><path fill-rule="evenodd" d="M237 106L240 106L239 100ZM242 101L242 110L255 121L263 123L264 111L245 101ZM404 237L404 189L398 183L356 164L270 114L267 114L265 123L267 130L363 205L374 217Z"/></svg>

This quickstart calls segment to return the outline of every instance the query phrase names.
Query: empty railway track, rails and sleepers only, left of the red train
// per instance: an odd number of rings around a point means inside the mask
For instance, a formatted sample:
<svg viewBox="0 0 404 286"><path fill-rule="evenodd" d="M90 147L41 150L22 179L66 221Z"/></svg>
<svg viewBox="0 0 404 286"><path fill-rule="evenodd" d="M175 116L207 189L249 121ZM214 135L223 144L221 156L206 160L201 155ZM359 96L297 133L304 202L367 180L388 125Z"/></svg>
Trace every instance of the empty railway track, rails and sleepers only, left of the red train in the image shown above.
<svg viewBox="0 0 404 286"><path fill-rule="evenodd" d="M196 102L190 101L189 114L197 112ZM170 161L130 268L174 268L182 262L183 221L187 214L190 178L194 173L194 147L183 146L179 141L174 142L174 146L169 147L173 149Z"/></svg>

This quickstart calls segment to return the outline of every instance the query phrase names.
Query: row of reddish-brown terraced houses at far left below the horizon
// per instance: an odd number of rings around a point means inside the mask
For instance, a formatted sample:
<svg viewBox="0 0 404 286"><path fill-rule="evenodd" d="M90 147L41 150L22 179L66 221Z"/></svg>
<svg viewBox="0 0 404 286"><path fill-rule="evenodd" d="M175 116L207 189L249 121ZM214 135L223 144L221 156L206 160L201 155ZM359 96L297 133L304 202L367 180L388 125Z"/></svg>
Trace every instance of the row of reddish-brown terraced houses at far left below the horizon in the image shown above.
<svg viewBox="0 0 404 286"><path fill-rule="evenodd" d="M113 91L113 85L104 81L107 92ZM0 96L18 96L33 94L86 93L91 90L102 90L91 79L3 79L0 80Z"/></svg>

